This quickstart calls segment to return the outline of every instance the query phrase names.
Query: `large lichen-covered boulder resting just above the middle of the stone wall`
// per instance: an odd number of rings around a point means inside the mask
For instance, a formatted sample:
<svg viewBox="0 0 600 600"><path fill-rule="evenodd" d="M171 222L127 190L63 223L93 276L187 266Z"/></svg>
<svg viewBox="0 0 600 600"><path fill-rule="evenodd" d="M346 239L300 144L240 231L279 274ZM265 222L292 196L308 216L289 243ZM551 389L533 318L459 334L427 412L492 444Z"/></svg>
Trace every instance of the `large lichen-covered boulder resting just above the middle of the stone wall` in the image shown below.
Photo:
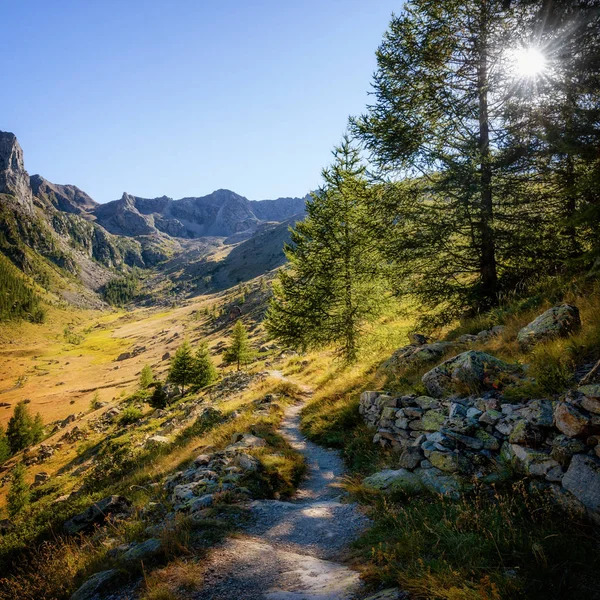
<svg viewBox="0 0 600 600"><path fill-rule="evenodd" d="M493 389L501 376L514 375L518 368L476 350L454 356L423 375L423 385L431 396L439 398L455 392Z"/></svg>

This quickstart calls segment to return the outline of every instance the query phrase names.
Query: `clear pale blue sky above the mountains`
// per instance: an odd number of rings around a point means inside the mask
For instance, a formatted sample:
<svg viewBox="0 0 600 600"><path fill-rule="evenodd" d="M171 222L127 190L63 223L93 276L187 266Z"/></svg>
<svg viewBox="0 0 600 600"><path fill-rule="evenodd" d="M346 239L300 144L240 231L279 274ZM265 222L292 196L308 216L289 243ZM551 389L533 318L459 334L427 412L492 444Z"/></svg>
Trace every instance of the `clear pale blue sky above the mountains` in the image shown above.
<svg viewBox="0 0 600 600"><path fill-rule="evenodd" d="M2 2L0 130L95 200L301 196L399 0Z"/></svg>

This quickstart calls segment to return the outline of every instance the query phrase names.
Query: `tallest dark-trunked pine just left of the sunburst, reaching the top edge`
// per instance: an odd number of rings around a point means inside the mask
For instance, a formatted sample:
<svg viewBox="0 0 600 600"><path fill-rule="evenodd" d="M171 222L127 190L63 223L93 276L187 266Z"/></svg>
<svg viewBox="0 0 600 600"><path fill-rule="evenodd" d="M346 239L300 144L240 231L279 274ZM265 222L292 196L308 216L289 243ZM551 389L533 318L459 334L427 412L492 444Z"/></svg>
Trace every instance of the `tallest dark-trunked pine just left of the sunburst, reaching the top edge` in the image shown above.
<svg viewBox="0 0 600 600"><path fill-rule="evenodd" d="M379 208L396 290L446 318L495 305L523 262L513 230L536 235L530 206L498 193L507 6L406 2L377 52L375 102L351 120L380 175L405 180Z"/></svg>

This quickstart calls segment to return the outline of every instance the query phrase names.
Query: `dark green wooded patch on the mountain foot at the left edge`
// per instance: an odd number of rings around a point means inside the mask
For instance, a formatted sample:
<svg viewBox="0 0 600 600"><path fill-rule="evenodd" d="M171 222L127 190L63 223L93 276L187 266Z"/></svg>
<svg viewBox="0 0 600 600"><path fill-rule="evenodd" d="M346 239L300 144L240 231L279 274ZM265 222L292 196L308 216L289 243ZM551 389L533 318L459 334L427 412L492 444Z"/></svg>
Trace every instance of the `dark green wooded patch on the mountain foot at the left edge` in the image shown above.
<svg viewBox="0 0 600 600"><path fill-rule="evenodd" d="M0 321L27 319L43 323L46 312L25 278L0 254Z"/></svg>

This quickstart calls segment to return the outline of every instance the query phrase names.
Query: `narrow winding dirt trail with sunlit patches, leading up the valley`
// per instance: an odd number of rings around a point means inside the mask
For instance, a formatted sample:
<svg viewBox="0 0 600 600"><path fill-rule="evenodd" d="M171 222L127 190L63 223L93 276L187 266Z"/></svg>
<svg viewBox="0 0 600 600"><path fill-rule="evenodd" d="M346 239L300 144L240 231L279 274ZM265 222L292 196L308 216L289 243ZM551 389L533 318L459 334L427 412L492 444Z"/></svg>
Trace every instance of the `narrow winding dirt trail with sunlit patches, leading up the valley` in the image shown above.
<svg viewBox="0 0 600 600"><path fill-rule="evenodd" d="M358 574L336 561L367 520L340 501L342 460L304 438L301 409L287 409L281 431L304 455L306 479L290 502L252 503L253 525L211 553L197 600L350 600L360 591Z"/></svg>

